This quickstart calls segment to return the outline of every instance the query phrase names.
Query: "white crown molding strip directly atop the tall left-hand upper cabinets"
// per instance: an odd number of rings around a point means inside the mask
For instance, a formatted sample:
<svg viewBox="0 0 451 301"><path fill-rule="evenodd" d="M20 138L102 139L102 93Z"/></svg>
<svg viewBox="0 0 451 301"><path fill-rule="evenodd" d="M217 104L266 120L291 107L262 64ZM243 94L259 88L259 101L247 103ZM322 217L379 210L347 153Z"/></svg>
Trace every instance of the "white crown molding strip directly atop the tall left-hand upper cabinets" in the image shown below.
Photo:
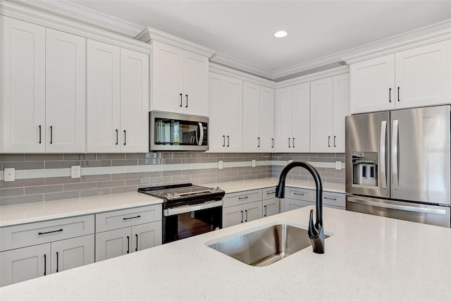
<svg viewBox="0 0 451 301"><path fill-rule="evenodd" d="M73 35L94 39L99 42L105 42L107 44L131 49L144 54L150 54L152 49L149 44L137 41L136 39L124 37L123 35L117 35L113 32L101 30L90 25L74 22L73 20L68 20L67 18L55 16L52 13L42 12L28 6L13 3L11 1L0 2L0 15L16 18L18 20L24 20L26 22L52 28L54 30L68 32Z"/></svg>

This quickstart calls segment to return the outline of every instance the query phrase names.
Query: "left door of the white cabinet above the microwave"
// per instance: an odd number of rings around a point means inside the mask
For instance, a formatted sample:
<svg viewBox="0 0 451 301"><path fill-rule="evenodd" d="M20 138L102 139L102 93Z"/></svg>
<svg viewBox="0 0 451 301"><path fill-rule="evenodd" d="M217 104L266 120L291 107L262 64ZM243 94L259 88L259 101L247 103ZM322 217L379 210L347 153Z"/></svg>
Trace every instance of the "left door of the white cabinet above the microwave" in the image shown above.
<svg viewBox="0 0 451 301"><path fill-rule="evenodd" d="M152 41L151 110L183 113L183 50Z"/></svg>

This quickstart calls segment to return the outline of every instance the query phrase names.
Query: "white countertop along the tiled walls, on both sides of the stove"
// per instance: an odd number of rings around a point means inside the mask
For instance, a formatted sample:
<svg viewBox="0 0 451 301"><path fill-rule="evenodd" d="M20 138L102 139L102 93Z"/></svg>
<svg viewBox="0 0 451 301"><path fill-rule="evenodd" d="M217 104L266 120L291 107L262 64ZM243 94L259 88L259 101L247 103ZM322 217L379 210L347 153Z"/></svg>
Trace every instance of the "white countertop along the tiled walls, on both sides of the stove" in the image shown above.
<svg viewBox="0 0 451 301"><path fill-rule="evenodd" d="M226 193L232 193L273 187L277 183L278 178L263 178L258 180L217 183L214 185L223 189ZM314 182L306 180L287 180L286 185L288 187L315 189ZM206 186L208 187L209 185L207 184ZM345 192L344 184L323 183L323 186L324 191ZM62 219L85 214L96 214L101 211L161 204L162 202L158 197L151 197L140 192L128 192L118 195L82 197L79 199L63 199L51 202L5 206L0 207L0 227L46 221L49 219Z"/></svg>

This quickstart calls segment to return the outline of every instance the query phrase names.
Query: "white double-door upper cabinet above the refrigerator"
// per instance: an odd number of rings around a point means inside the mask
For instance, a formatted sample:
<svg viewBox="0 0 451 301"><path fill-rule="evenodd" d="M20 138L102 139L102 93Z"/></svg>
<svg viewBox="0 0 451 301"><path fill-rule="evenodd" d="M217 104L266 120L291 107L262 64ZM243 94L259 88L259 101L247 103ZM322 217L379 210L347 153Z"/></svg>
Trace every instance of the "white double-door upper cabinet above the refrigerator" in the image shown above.
<svg viewBox="0 0 451 301"><path fill-rule="evenodd" d="M350 66L351 113L449 104L451 40Z"/></svg>

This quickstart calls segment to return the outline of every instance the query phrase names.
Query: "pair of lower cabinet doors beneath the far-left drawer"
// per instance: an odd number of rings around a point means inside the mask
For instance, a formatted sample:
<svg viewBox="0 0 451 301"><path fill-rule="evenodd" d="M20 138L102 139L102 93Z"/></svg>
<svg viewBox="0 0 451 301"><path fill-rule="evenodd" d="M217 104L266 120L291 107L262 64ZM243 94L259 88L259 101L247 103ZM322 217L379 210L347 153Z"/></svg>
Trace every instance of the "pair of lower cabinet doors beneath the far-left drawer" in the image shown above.
<svg viewBox="0 0 451 301"><path fill-rule="evenodd" d="M94 262L94 235L21 247L0 253L0 286Z"/></svg>

